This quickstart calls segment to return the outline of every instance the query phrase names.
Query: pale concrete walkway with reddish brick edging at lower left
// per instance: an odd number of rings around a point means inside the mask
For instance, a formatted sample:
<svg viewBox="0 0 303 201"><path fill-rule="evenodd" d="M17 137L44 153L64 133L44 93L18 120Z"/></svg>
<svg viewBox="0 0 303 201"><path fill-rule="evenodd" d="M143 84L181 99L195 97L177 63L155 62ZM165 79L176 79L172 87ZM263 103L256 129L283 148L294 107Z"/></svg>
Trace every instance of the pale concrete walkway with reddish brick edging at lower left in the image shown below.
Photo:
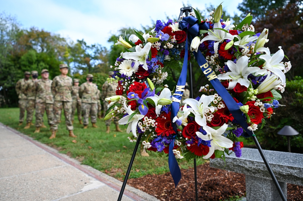
<svg viewBox="0 0 303 201"><path fill-rule="evenodd" d="M0 200L117 200L122 182L0 123ZM131 186L123 201L158 201Z"/></svg>

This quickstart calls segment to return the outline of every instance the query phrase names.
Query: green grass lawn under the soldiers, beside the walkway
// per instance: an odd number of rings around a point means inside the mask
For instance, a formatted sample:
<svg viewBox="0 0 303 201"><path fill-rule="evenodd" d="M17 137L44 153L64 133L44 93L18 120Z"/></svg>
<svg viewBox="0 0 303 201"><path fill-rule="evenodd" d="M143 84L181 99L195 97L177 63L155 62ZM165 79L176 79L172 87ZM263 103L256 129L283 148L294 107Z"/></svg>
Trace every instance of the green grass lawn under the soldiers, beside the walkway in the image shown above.
<svg viewBox="0 0 303 201"><path fill-rule="evenodd" d="M115 178L124 178L135 147L135 143L130 143L127 139L130 135L126 133L126 126L120 125L123 132L115 132L115 125L112 122L111 132L106 134L106 127L102 119L97 120L99 128L92 128L92 125L89 124L88 129L83 129L83 125L78 123L77 115L75 115L74 134L78 137L70 138L62 112L62 122L59 125L56 138L50 140L48 138L51 131L47 125L46 115L44 115L44 122L48 128L41 128L40 133L34 133L35 126L23 129L25 121L22 126L18 126L18 119L19 108L0 109L0 122L3 124L56 148L60 153L76 158L82 164L94 167ZM76 140L76 143L72 142L73 140ZM149 153L150 157L142 157L139 151L129 178L142 177L146 174L163 174L169 171L167 157L159 157L155 152ZM204 161L204 159L197 159L197 165L203 164ZM193 161L187 163L186 160L181 160L180 166L181 168L193 167Z"/></svg>

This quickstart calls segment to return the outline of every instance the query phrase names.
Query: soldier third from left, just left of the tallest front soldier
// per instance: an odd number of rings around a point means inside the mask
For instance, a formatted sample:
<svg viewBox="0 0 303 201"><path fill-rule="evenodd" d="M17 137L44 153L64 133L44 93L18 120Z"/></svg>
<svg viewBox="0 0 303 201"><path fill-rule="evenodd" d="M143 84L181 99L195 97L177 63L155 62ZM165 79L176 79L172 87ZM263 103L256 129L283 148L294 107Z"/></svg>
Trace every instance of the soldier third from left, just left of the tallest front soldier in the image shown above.
<svg viewBox="0 0 303 201"><path fill-rule="evenodd" d="M34 133L39 133L40 128L46 128L43 124L43 115L46 110L48 125L54 124L53 104L54 97L52 94L52 80L48 79L49 73L47 69L41 71L42 79L36 82L36 130Z"/></svg>

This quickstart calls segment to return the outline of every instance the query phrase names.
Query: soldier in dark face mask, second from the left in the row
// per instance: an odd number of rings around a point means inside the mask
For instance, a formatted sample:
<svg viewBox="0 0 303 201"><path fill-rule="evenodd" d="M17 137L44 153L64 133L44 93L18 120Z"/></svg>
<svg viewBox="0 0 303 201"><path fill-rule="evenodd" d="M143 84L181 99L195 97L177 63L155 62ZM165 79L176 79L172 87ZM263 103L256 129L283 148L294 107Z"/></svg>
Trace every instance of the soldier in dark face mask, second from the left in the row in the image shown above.
<svg viewBox="0 0 303 201"><path fill-rule="evenodd" d="M36 100L36 82L38 81L38 71L32 71L32 79L28 81L26 86L26 97L27 97L27 105L26 105L26 126L24 129L28 129L31 127L33 121L33 115L35 111L35 100Z"/></svg>

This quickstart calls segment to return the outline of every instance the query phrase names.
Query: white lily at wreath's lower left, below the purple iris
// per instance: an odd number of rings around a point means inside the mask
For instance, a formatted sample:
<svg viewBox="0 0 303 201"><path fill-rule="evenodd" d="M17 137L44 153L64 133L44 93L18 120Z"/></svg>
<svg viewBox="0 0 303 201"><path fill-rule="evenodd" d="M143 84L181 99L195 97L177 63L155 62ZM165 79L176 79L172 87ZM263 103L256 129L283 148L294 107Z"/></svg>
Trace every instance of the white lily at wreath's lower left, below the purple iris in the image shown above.
<svg viewBox="0 0 303 201"><path fill-rule="evenodd" d="M126 107L126 104L124 104L124 109L126 110L127 114L125 117L121 118L118 123L120 125L125 125L128 124L128 127L126 129L127 133L130 133L130 131L132 131L132 134L137 137L137 125L140 119L144 118L144 115L141 115L140 113L132 116L132 118L129 120L129 117L132 113L134 113L134 111L132 111L131 109L131 105L128 105L128 107Z"/></svg>

